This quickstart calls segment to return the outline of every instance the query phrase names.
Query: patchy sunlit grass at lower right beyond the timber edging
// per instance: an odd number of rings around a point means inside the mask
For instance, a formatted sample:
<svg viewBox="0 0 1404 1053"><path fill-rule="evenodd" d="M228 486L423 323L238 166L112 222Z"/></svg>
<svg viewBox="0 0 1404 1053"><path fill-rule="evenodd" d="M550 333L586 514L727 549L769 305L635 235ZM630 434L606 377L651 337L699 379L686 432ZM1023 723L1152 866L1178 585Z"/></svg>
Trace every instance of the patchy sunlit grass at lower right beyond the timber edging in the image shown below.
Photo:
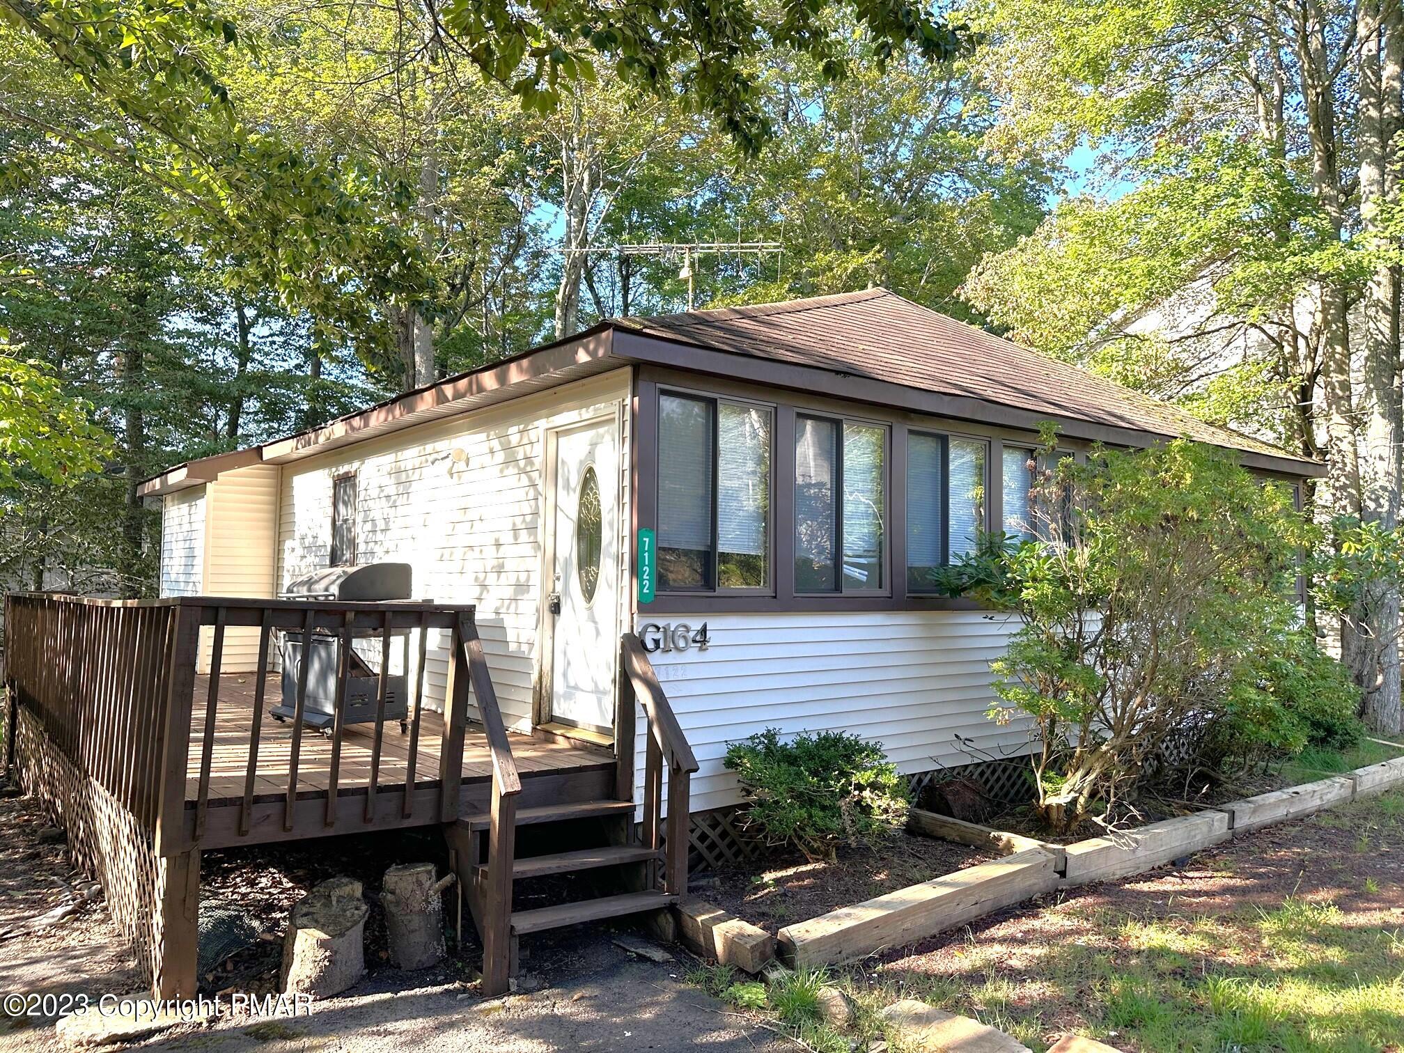
<svg viewBox="0 0 1404 1053"><path fill-rule="evenodd" d="M1360 767L1383 760L1383 751L1366 743L1351 757L1338 755L1332 767ZM1370 852L1398 851L1404 792L1332 809L1309 823L1344 831L1346 852L1365 838ZM859 1019L894 998L917 997L998 1026L1035 1050L1046 1049L1063 1028L1146 1053L1401 1049L1404 924L1383 927L1355 913L1349 896L1360 882L1346 879L1339 901L1317 892L1261 907L1230 903L1213 914L1165 914L1161 903L1158 914L1129 917L1095 900L1068 903L1061 917L1075 935L1067 938L1042 935L1012 948L952 945L938 959L941 973L854 973L855 1000L869 1007ZM1389 892L1383 876L1365 880L1372 894L1382 885ZM1175 906L1171 900L1168 910Z"/></svg>

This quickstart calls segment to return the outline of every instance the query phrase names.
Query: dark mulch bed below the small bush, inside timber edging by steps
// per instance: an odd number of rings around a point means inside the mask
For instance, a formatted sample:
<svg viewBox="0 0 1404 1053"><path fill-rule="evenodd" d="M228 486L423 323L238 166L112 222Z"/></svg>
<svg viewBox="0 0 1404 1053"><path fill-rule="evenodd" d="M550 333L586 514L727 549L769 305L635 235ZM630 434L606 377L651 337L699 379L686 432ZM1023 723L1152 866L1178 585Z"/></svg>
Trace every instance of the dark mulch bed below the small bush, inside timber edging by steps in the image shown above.
<svg viewBox="0 0 1404 1053"><path fill-rule="evenodd" d="M692 879L692 892L729 914L775 932L796 921L928 882L998 854L915 834L897 834L876 851L841 848L833 863L775 851L748 866Z"/></svg>

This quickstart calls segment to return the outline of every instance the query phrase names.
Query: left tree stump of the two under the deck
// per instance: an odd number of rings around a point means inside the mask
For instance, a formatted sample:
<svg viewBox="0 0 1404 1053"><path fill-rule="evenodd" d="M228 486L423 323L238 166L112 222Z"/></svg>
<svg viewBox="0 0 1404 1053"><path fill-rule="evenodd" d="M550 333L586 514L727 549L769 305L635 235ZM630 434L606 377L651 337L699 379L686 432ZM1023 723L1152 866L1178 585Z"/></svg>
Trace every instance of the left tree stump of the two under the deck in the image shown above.
<svg viewBox="0 0 1404 1053"><path fill-rule="evenodd" d="M365 920L361 882L333 878L314 886L288 918L282 945L282 983L288 993L329 998L365 973Z"/></svg>

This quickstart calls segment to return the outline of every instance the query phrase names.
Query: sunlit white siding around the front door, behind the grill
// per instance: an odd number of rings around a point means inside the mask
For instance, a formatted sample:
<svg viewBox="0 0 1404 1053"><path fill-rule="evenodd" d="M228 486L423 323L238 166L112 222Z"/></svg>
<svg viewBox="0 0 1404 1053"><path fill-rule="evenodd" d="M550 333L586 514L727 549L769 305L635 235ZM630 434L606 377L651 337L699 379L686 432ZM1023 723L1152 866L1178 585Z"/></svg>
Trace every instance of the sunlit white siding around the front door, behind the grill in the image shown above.
<svg viewBox="0 0 1404 1053"><path fill-rule="evenodd" d="M601 416L626 418L629 392L629 371L622 369L285 465L279 587L329 566L333 477L355 472L357 562L409 563L416 598L475 604L504 720L529 730L541 675L541 600L550 591L542 583L545 434ZM619 465L614 487L628 524L626 434ZM628 552L626 541L621 536L621 552ZM621 576L619 595L626 597L623 566L609 573ZM444 701L446 644L431 635L424 682L432 708Z"/></svg>

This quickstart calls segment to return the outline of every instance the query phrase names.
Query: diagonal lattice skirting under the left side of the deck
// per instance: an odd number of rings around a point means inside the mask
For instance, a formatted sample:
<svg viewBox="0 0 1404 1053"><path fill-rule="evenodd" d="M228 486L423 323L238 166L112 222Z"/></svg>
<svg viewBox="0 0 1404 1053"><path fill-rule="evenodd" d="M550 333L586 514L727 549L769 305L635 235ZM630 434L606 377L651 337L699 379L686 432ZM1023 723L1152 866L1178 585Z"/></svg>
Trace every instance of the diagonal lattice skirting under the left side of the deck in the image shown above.
<svg viewBox="0 0 1404 1053"><path fill-rule="evenodd" d="M73 862L97 880L107 910L131 943L147 980L160 973L161 899L170 873L152 835L105 789L84 776L22 708L15 720L20 786L39 799L48 817L69 835Z"/></svg>

